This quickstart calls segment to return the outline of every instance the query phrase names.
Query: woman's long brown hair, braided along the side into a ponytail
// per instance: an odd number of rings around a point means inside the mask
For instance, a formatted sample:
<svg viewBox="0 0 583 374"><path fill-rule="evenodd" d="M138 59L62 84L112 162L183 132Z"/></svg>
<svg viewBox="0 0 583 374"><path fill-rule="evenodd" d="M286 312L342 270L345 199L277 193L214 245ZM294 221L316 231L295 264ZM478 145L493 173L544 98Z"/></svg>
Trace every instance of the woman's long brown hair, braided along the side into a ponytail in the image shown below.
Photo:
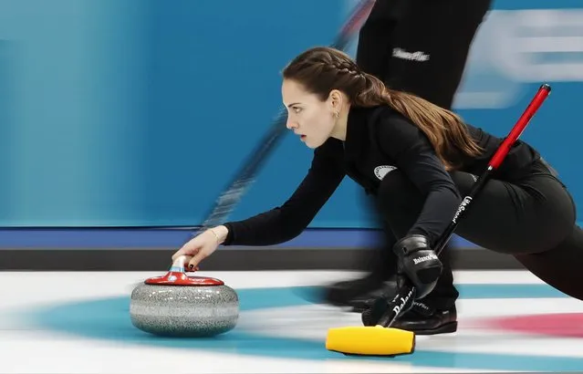
<svg viewBox="0 0 583 374"><path fill-rule="evenodd" d="M338 89L355 107L389 105L423 131L448 170L456 167L455 153L474 157L483 151L471 138L463 120L451 110L407 92L387 88L379 78L360 70L338 49L307 49L286 66L283 77L297 81L322 100L328 99L332 89Z"/></svg>

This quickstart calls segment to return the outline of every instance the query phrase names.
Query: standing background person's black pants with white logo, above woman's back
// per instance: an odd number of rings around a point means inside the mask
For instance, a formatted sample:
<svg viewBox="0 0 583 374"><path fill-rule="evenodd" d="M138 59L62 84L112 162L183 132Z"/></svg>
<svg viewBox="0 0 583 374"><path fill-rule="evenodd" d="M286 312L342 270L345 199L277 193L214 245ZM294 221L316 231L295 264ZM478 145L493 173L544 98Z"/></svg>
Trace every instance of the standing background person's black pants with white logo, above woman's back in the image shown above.
<svg viewBox="0 0 583 374"><path fill-rule="evenodd" d="M492 0L377 0L359 32L356 61L390 88L445 109Z"/></svg>

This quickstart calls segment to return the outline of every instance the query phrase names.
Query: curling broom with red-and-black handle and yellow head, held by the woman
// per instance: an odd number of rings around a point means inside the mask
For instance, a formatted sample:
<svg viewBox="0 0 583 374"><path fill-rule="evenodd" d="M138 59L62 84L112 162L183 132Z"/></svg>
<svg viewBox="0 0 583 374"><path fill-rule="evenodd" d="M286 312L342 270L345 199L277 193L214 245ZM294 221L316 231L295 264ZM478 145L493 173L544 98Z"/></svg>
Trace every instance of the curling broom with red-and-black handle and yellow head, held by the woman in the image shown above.
<svg viewBox="0 0 583 374"><path fill-rule="evenodd" d="M488 163L487 169L475 182L472 191L463 198L462 203L455 212L452 221L440 237L438 244L435 246L435 253L439 255L443 247L450 240L460 218L467 212L474 199L484 188L485 182L498 169L502 161L518 140L526 125L540 108L541 104L547 99L551 88L544 84L538 88L536 96L532 99L528 107L515 123L514 128L510 131L505 140L502 141L494 156ZM396 356L402 354L411 354L415 349L415 334L400 328L391 327L395 320L400 316L405 306L412 303L415 295L415 287L411 281L405 279L404 285L400 287L397 295L390 302L382 300L382 316L375 326L365 327L334 327L328 329L326 339L326 348L351 355L372 355L372 356ZM378 304L375 306L379 306ZM366 313L366 312L365 312Z"/></svg>

